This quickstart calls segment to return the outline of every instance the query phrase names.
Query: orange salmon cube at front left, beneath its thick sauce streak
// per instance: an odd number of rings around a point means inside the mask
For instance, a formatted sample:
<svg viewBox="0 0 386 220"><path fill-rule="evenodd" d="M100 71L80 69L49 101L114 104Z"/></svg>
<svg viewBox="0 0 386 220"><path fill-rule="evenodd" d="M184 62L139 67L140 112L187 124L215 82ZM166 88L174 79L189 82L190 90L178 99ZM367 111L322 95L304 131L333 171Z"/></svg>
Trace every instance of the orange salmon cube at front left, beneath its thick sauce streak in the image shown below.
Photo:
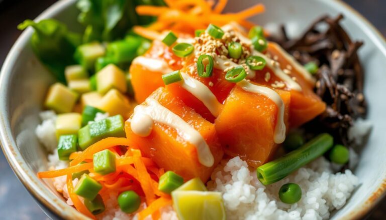
<svg viewBox="0 0 386 220"><path fill-rule="evenodd" d="M213 154L215 161L213 166L206 167L199 162L196 146L185 141L180 131L158 122L154 122L149 136L141 137L132 131L129 119L125 124L127 138L134 143L134 147L139 148L144 156L150 157L159 167L172 170L185 180L200 177L204 182L207 181L223 156L214 124L186 106L164 87L154 91L149 98L155 99L181 117L202 135Z"/></svg>

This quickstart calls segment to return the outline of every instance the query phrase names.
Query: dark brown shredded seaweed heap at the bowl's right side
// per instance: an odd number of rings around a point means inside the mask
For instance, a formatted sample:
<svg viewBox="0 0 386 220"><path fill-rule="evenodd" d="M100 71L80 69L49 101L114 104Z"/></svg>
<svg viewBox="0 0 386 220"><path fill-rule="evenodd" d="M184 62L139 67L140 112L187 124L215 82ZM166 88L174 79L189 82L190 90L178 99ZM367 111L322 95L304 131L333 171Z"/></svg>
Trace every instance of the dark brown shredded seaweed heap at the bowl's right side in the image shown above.
<svg viewBox="0 0 386 220"><path fill-rule="evenodd" d="M349 146L348 129L353 120L366 115L364 76L357 55L363 43L350 39L340 25L342 19L342 15L323 16L298 39L289 39L282 26L281 36L269 40L280 44L301 64L312 61L319 65L315 92L326 102L327 109L305 128L310 132L328 131L337 142Z"/></svg>

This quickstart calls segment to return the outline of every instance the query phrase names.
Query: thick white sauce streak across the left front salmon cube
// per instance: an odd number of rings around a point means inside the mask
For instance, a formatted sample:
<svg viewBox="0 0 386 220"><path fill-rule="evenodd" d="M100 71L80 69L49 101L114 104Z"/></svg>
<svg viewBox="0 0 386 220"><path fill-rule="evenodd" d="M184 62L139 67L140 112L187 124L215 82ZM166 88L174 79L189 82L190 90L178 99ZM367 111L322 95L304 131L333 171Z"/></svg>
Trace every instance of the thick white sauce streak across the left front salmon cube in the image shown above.
<svg viewBox="0 0 386 220"><path fill-rule="evenodd" d="M133 117L129 120L131 130L139 136L148 136L151 133L154 121L176 129L179 136L197 148L199 162L211 167L214 157L208 144L201 134L178 115L163 107L155 99L147 98L147 105L137 105Z"/></svg>

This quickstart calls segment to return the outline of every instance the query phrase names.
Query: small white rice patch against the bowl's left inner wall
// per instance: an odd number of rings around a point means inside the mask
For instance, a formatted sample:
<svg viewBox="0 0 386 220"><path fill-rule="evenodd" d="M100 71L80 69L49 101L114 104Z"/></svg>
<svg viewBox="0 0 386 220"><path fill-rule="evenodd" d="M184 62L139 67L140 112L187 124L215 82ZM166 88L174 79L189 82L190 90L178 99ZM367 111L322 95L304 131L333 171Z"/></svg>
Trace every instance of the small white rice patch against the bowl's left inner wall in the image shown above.
<svg viewBox="0 0 386 220"><path fill-rule="evenodd" d="M47 151L52 152L58 144L55 133L56 114L54 111L43 111L39 116L42 123L36 127L36 136Z"/></svg>

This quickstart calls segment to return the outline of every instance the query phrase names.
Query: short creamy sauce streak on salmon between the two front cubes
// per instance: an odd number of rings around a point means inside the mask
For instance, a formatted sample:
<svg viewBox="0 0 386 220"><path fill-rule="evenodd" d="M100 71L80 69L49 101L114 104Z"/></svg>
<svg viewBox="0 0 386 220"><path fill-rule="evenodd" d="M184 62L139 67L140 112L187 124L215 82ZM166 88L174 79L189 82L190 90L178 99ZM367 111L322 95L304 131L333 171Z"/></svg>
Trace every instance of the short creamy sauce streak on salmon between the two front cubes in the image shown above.
<svg viewBox="0 0 386 220"><path fill-rule="evenodd" d="M212 91L202 82L181 72L183 80L179 82L182 88L194 95L209 109L213 116L219 116L222 105Z"/></svg>

